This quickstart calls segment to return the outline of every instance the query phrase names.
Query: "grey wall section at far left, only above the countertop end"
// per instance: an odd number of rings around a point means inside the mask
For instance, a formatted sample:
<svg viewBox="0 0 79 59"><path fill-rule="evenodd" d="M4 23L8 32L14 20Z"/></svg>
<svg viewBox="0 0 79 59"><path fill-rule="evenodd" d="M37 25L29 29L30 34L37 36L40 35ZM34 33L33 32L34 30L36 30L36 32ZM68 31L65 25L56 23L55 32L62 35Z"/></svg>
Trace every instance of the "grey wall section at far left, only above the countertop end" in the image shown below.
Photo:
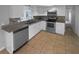
<svg viewBox="0 0 79 59"><path fill-rule="evenodd" d="M0 24L8 24L9 6L0 5Z"/></svg>

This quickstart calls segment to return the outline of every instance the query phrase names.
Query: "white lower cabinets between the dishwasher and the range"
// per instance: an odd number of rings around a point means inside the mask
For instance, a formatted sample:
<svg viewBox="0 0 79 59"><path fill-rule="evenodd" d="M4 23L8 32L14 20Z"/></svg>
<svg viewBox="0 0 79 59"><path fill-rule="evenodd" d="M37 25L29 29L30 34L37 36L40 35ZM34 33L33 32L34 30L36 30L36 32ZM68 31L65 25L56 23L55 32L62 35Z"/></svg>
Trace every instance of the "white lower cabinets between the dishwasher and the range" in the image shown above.
<svg viewBox="0 0 79 59"><path fill-rule="evenodd" d="M40 21L40 22L34 23L32 25L29 25L29 39L31 39L33 36L35 36L41 30L45 30L45 29L46 29L45 21Z"/></svg>

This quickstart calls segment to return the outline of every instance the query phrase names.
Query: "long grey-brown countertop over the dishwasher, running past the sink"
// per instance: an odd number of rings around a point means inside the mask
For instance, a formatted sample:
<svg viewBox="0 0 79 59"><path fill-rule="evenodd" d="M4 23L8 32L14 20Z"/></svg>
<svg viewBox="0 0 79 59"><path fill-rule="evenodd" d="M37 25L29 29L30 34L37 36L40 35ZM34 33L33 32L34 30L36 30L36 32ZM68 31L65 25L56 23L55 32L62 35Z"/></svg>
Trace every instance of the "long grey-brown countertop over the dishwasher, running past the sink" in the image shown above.
<svg viewBox="0 0 79 59"><path fill-rule="evenodd" d="M34 21L33 23L36 23L36 22L39 22L39 20ZM31 24L33 24L33 23L31 23ZM23 21L23 22L19 22L19 23L15 23L15 24L3 25L2 30L5 30L7 32L15 32L21 28L28 27L31 24L27 24L26 21Z"/></svg>

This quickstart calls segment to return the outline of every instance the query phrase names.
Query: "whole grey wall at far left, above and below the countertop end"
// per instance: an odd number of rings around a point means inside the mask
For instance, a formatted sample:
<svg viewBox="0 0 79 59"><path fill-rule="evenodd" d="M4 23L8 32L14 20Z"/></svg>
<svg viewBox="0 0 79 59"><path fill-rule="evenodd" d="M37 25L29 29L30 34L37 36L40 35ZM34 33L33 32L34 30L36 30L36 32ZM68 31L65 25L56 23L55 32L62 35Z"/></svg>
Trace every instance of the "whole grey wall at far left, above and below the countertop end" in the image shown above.
<svg viewBox="0 0 79 59"><path fill-rule="evenodd" d="M8 24L9 23L9 6L0 5L0 27L1 24ZM5 46L5 34L0 29L0 49Z"/></svg>

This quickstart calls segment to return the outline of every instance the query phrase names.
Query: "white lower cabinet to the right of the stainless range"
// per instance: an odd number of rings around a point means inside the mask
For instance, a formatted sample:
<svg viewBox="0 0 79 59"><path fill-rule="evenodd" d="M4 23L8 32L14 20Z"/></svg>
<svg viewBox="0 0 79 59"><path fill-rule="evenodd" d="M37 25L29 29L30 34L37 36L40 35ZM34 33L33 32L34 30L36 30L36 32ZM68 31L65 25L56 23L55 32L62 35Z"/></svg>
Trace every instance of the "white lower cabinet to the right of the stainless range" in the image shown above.
<svg viewBox="0 0 79 59"><path fill-rule="evenodd" d="M56 22L56 33L64 35L65 23Z"/></svg>

